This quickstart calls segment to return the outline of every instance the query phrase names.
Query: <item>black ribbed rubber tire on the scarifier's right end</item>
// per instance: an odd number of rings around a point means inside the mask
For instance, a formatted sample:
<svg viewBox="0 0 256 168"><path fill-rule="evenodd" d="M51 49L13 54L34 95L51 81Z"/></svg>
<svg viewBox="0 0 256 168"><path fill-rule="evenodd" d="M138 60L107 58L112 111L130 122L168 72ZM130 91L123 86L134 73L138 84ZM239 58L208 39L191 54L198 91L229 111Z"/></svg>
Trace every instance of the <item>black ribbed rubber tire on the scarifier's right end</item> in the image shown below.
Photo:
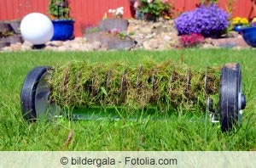
<svg viewBox="0 0 256 168"><path fill-rule="evenodd" d="M219 109L222 132L238 123L238 94L241 85L240 64L225 64L220 77Z"/></svg>

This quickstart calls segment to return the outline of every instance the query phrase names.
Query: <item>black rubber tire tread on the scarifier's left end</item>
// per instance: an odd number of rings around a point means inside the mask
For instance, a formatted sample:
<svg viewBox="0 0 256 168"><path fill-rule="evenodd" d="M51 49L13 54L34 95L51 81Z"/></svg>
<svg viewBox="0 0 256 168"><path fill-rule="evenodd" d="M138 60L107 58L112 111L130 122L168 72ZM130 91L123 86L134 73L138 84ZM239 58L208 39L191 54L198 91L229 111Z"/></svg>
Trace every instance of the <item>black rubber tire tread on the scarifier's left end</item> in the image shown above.
<svg viewBox="0 0 256 168"><path fill-rule="evenodd" d="M26 76L20 92L20 109L25 120L36 120L37 112L35 107L35 97L38 81L50 70L51 67L39 66L34 68Z"/></svg>

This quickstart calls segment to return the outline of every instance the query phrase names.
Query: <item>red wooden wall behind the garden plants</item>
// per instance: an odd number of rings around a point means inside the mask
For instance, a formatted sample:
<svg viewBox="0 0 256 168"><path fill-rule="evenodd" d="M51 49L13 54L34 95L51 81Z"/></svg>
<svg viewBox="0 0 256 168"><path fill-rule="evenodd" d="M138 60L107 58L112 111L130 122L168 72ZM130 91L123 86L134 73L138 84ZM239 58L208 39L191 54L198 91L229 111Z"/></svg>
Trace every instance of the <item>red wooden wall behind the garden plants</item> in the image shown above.
<svg viewBox="0 0 256 168"><path fill-rule="evenodd" d="M199 0L171 0L175 8L192 10ZM229 0L219 0L219 6L225 9ZM40 12L47 14L49 0L0 0L0 20L21 20L26 14ZM71 14L75 20L75 35L81 36L84 27L97 25L109 8L125 8L125 18L131 17L129 0L70 0ZM251 0L236 0L233 16L252 18Z"/></svg>

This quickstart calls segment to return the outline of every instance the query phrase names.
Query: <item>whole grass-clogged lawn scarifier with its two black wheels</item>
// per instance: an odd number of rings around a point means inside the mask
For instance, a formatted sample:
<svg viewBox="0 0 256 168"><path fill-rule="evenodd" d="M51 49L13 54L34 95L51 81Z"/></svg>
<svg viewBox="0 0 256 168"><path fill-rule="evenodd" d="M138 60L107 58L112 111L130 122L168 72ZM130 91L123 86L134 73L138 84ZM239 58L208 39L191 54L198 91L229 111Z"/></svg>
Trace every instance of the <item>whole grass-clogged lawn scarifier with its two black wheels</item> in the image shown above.
<svg viewBox="0 0 256 168"><path fill-rule="evenodd" d="M26 120L65 115L89 119L79 111L89 109L90 113L95 106L117 111L116 107L122 107L127 114L154 107L160 115L182 107L207 111L212 122L220 122L223 132L241 122L246 106L240 64L201 70L172 61L149 61L137 67L86 62L36 67L26 76L20 102ZM66 113L67 109L72 113Z"/></svg>

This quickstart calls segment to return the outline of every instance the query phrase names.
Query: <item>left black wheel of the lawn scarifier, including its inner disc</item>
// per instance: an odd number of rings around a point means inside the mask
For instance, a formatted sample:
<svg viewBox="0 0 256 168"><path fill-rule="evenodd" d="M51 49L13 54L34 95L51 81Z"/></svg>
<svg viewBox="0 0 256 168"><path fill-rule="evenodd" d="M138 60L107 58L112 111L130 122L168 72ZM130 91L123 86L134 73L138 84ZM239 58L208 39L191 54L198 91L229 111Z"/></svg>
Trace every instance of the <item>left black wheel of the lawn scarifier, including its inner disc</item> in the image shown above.
<svg viewBox="0 0 256 168"><path fill-rule="evenodd" d="M22 115L26 120L36 120L45 115L48 105L49 87L44 80L50 67L40 66L29 72L20 92Z"/></svg>

